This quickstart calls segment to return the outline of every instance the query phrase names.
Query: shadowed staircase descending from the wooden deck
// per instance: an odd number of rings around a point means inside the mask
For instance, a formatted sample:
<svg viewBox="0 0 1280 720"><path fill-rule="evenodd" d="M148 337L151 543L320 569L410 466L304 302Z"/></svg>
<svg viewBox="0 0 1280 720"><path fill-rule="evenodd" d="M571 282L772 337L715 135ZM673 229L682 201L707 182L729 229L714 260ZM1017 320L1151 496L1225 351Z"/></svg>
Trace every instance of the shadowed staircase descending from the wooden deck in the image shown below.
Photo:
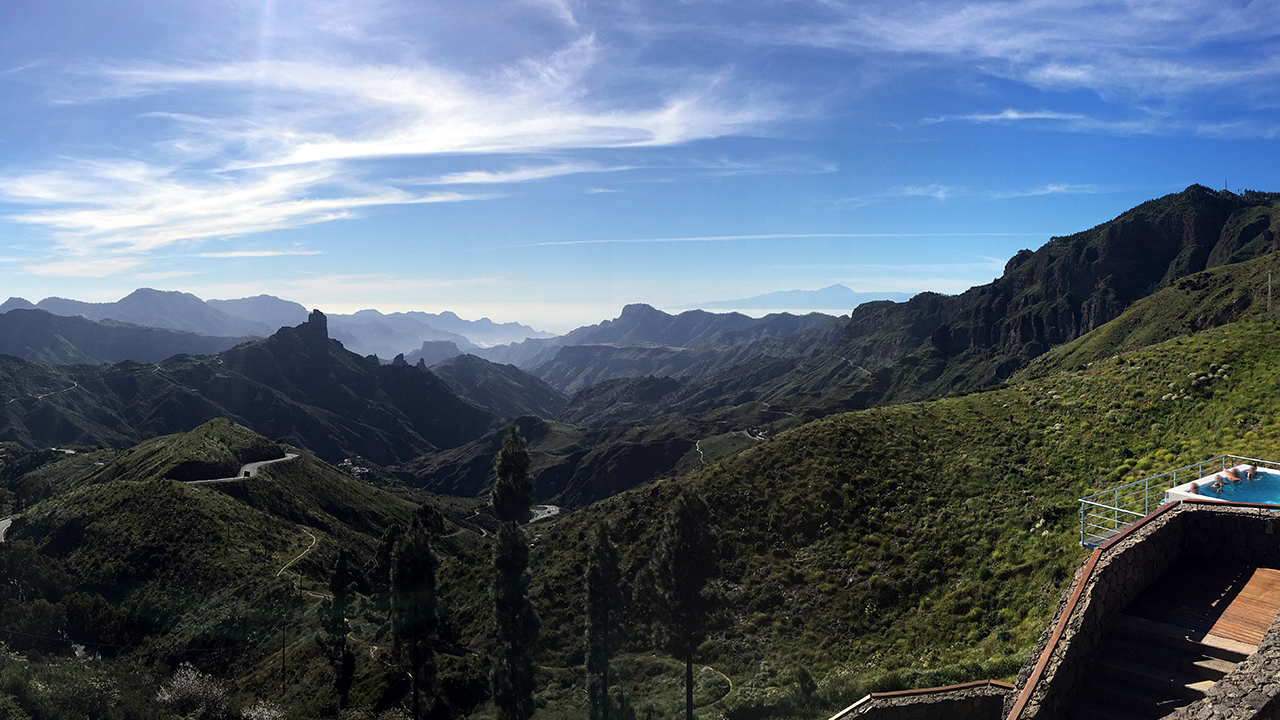
<svg viewBox="0 0 1280 720"><path fill-rule="evenodd" d="M1121 614L1068 717L1164 717L1204 697L1213 683L1256 651L1257 646L1239 641Z"/></svg>

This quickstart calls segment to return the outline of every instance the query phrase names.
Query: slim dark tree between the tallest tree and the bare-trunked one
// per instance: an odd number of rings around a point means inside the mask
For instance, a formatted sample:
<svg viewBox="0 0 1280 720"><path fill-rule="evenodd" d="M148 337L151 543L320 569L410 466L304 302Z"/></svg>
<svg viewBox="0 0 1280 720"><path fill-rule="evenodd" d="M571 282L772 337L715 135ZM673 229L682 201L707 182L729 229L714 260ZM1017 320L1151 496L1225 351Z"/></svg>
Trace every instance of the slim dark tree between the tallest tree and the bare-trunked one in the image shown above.
<svg viewBox="0 0 1280 720"><path fill-rule="evenodd" d="M586 701L589 720L609 720L609 657L622 644L625 594L618 548L596 523L586 551Z"/></svg>

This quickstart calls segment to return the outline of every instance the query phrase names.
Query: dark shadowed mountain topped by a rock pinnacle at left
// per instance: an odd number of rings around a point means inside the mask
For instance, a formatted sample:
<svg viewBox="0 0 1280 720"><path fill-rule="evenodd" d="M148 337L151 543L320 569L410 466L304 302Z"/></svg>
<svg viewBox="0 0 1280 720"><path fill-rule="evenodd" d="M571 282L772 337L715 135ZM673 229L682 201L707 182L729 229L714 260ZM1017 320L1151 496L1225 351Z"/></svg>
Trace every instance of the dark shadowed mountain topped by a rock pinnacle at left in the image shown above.
<svg viewBox="0 0 1280 720"><path fill-rule="evenodd" d="M27 447L124 447L230 418L328 460L380 464L466 443L495 420L428 372L347 352L319 313L209 359L59 368L0 357L0 439Z"/></svg>

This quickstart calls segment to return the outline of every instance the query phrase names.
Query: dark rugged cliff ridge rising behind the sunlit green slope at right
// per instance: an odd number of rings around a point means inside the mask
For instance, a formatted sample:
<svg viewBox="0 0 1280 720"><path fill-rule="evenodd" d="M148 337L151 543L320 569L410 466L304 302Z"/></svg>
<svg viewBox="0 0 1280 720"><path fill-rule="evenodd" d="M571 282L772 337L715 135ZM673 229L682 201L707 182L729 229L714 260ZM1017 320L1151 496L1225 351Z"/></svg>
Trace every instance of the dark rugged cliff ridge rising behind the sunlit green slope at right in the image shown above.
<svg viewBox="0 0 1280 720"><path fill-rule="evenodd" d="M1021 250L1000 278L960 295L860 305L832 347L732 392L765 402L835 392L829 411L989 387L1179 278L1280 250L1277 201L1280 193L1193 184Z"/></svg>

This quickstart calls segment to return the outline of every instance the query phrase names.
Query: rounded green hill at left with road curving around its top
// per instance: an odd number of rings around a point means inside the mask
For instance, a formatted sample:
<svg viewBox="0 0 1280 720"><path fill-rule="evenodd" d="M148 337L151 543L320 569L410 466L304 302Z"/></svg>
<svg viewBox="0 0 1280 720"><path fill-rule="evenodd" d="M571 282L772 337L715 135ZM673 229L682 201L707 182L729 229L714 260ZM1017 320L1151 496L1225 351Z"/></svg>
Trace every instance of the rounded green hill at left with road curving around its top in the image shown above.
<svg viewBox="0 0 1280 720"><path fill-rule="evenodd" d="M302 680L326 667L310 634L338 548L371 569L379 536L407 521L415 505L310 456L234 483L192 486L157 477L170 461L268 445L275 447L229 423L143 443L105 468L79 468L111 470L118 479L64 478L63 484L81 487L29 509L10 539L36 542L76 589L101 593L127 614L133 642L141 639L131 646L131 662L159 662L156 673L164 675L165 666L191 660L238 678L243 697L275 697L280 679L270 653L279 648L279 610L273 603L282 593L300 598L289 638L291 653L298 656L291 683L297 694L289 703L300 716L315 716L317 703L332 698L312 688L328 680ZM47 466L36 471L47 474ZM379 628L366 624L364 632L365 642L387 644ZM365 671L381 692L385 670L369 660Z"/></svg>

